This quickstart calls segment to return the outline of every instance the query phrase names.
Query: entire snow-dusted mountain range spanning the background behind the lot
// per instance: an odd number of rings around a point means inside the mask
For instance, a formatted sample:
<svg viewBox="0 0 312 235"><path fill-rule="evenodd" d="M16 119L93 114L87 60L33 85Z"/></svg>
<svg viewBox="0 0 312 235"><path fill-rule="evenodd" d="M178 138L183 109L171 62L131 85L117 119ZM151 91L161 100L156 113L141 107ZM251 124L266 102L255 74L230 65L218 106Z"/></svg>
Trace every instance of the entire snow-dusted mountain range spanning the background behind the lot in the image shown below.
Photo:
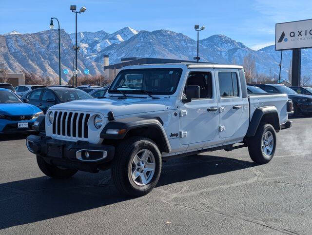
<svg viewBox="0 0 312 235"><path fill-rule="evenodd" d="M61 30L61 66L72 74L75 51L75 34ZM105 31L79 32L78 67L90 70L91 75L102 71L103 55L109 55L110 64L120 62L125 57L149 57L192 60L196 56L196 41L183 34L168 30L137 31L125 27L115 33ZM280 52L273 46L254 51L241 42L225 35L213 35L200 40L200 61L242 64L249 54L256 61L258 74L278 75ZM292 51L283 52L282 77L287 78L287 71ZM302 75L311 74L312 51L302 50ZM39 76L58 76L58 33L57 30L42 31L34 34L11 33L0 35L0 68L11 72L21 70ZM65 79L65 75L62 75Z"/></svg>

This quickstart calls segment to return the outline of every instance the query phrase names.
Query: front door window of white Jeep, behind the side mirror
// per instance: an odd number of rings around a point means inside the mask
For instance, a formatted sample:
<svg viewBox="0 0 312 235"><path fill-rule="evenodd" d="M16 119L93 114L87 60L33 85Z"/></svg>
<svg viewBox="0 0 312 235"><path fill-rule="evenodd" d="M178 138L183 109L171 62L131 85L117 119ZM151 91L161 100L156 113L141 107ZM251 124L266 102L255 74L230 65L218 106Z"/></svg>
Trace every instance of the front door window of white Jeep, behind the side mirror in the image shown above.
<svg viewBox="0 0 312 235"><path fill-rule="evenodd" d="M210 72L191 72L186 85L200 87L200 98L213 97L213 84Z"/></svg>

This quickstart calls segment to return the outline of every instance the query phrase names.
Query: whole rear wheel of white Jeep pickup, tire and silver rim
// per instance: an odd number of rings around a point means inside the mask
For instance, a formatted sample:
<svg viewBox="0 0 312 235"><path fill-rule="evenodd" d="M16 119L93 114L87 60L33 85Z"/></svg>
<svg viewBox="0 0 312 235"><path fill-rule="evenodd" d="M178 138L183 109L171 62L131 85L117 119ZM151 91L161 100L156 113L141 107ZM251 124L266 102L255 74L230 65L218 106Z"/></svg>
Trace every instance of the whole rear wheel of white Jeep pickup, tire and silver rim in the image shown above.
<svg viewBox="0 0 312 235"><path fill-rule="evenodd" d="M276 148L276 133L271 124L260 123L254 137L248 140L249 156L256 163L271 161Z"/></svg>

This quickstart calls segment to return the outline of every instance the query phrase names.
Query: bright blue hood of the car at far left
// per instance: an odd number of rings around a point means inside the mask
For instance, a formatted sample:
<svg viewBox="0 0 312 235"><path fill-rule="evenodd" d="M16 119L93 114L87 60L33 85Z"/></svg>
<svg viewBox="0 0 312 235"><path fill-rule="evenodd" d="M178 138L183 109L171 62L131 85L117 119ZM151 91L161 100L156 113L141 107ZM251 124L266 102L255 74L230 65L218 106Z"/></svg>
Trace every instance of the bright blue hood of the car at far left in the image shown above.
<svg viewBox="0 0 312 235"><path fill-rule="evenodd" d="M34 115L41 110L32 104L0 104L0 114L17 116L17 115Z"/></svg>

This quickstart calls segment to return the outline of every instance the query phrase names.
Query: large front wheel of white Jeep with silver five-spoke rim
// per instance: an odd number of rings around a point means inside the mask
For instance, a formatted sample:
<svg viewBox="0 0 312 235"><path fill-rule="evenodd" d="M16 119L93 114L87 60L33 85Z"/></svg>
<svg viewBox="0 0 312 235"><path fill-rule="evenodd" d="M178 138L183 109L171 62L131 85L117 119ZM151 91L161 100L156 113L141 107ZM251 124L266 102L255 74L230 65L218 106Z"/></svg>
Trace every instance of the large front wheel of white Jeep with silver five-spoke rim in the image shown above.
<svg viewBox="0 0 312 235"><path fill-rule="evenodd" d="M156 186L160 173L161 154L153 140L130 137L117 147L111 174L122 194L148 194Z"/></svg>

